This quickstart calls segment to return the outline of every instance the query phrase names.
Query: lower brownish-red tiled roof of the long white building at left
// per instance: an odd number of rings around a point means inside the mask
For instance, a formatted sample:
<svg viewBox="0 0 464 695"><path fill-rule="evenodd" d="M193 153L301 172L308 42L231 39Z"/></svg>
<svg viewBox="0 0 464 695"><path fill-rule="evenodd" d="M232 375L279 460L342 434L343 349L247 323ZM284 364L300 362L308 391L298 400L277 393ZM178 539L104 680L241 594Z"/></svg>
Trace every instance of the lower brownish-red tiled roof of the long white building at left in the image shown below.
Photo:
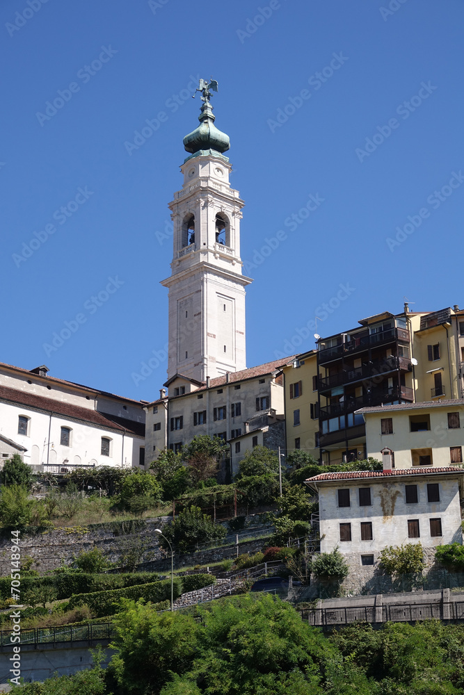
<svg viewBox="0 0 464 695"><path fill-rule="evenodd" d="M141 436L138 434L140 423L131 423L131 427L129 427L129 425L127 427L122 427L121 425L118 425L118 423L112 422L96 410L91 410L90 408L81 408L79 405L72 405L71 403L61 402L52 398L45 398L41 395L35 395L35 393L27 393L26 391L9 389L7 386L0 386L0 400L24 405L34 410L54 413L56 415L61 415L64 418L69 418L70 420L81 420L85 423L98 425L105 430L129 432L130 434ZM129 422L129 420L126 422Z"/></svg>

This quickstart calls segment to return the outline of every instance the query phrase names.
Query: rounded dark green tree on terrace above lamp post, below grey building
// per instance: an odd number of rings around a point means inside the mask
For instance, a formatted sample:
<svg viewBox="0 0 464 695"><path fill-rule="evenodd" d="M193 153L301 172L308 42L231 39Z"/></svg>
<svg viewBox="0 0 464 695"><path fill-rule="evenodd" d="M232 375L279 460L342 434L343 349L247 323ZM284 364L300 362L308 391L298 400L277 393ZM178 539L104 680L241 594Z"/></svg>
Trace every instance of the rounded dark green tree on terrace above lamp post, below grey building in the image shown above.
<svg viewBox="0 0 464 695"><path fill-rule="evenodd" d="M173 523L165 526L163 534L176 549L186 550L199 543L223 539L227 531L220 524L215 524L211 516L202 514L200 507L187 507L173 519ZM168 544L160 537L160 544L167 548Z"/></svg>

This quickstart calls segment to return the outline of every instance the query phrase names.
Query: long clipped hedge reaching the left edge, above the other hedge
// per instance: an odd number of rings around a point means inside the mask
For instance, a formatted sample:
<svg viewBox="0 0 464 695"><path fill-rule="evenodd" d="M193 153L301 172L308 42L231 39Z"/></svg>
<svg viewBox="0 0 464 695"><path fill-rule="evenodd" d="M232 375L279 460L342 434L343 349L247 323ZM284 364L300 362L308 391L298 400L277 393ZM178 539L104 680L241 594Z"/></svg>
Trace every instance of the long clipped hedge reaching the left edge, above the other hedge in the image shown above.
<svg viewBox="0 0 464 695"><path fill-rule="evenodd" d="M159 575L154 572L120 573L120 574L90 574L63 572L46 577L22 577L21 593L26 595L30 589L54 587L57 598L70 598L73 594L107 591L109 589L124 589L138 584L157 582ZM0 598L11 598L11 579L0 578Z"/></svg>

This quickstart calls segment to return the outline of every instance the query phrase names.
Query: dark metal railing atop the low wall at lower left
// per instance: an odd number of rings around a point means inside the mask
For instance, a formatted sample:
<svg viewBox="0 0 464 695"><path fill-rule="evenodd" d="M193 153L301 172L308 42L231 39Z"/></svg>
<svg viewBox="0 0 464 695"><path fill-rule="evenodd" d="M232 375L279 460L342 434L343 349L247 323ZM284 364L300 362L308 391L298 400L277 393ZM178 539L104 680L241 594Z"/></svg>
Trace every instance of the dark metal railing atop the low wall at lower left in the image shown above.
<svg viewBox="0 0 464 695"><path fill-rule="evenodd" d="M56 646L60 642L85 641L89 646L97 641L109 641L114 636L113 623L89 623L88 625L62 625L53 628L24 628L21 630L21 641L14 644L33 644L38 648L40 644ZM0 630L0 646L11 646L11 630Z"/></svg>

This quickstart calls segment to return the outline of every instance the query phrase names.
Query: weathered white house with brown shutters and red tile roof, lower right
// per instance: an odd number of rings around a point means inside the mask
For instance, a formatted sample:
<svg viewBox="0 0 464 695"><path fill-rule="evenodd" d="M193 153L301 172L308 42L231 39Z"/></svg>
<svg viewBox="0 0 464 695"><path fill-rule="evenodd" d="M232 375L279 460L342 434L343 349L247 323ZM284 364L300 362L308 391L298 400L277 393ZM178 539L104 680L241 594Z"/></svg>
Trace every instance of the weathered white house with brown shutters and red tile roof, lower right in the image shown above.
<svg viewBox="0 0 464 695"><path fill-rule="evenodd" d="M305 484L319 494L321 552L351 566L373 565L387 546L462 543L461 468L321 473Z"/></svg>

